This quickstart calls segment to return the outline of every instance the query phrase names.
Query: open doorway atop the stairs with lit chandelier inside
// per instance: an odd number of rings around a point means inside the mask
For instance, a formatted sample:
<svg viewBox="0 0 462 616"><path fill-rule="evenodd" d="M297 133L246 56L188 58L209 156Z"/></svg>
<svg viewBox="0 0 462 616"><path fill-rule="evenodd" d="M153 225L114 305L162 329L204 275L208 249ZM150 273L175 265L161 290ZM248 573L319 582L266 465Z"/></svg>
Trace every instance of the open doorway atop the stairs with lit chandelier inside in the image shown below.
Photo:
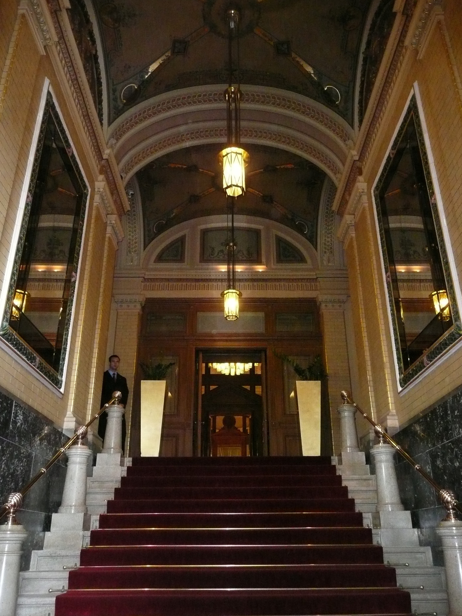
<svg viewBox="0 0 462 616"><path fill-rule="evenodd" d="M212 435L224 430L229 418L235 419L233 429L247 435L247 455L267 455L265 352L213 349L198 351L197 360L196 455L212 455ZM232 448L214 453L241 455Z"/></svg>

